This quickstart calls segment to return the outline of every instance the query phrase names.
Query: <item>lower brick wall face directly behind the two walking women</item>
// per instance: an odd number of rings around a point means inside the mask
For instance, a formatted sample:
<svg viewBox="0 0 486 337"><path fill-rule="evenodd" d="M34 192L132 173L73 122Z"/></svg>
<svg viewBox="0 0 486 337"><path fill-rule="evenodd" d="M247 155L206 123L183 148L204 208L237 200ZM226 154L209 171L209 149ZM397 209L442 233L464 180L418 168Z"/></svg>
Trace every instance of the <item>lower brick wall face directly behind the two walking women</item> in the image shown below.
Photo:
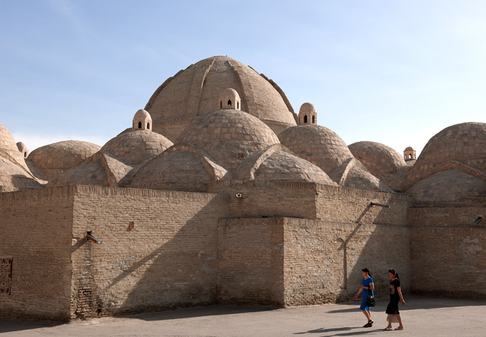
<svg viewBox="0 0 486 337"><path fill-rule="evenodd" d="M404 225L291 219L284 222L285 305L349 299L361 286L364 267L378 297L387 297L389 268L410 289L410 231Z"/></svg>

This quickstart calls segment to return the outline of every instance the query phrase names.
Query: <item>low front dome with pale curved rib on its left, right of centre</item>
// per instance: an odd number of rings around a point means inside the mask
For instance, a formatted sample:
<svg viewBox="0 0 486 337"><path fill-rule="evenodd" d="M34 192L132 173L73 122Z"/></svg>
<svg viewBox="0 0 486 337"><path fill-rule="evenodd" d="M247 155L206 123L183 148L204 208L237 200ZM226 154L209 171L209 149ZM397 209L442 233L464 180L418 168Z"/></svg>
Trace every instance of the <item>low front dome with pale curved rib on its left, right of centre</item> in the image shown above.
<svg viewBox="0 0 486 337"><path fill-rule="evenodd" d="M236 180L310 181L336 186L316 165L294 156L281 144L271 145L246 158L235 173Z"/></svg>

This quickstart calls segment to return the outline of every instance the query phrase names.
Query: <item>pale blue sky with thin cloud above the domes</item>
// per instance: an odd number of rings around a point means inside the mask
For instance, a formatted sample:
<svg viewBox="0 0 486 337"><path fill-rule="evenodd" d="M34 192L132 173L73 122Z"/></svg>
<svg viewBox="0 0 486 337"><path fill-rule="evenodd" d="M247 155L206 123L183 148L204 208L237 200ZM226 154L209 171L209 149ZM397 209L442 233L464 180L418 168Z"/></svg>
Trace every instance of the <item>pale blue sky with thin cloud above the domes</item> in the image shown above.
<svg viewBox="0 0 486 337"><path fill-rule="evenodd" d="M0 0L0 124L103 145L158 86L227 55L346 144L420 151L486 122L486 1Z"/></svg>

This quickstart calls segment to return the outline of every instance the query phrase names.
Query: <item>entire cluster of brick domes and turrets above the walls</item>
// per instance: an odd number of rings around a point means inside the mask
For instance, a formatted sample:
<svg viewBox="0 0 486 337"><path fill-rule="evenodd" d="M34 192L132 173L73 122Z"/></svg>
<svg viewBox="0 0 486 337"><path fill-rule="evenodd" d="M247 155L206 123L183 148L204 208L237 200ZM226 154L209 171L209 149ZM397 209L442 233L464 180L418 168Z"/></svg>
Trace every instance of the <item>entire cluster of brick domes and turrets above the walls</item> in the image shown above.
<svg viewBox="0 0 486 337"><path fill-rule="evenodd" d="M297 116L274 81L215 56L165 81L132 127L103 147L68 140L28 154L0 125L0 189L42 188L48 179L49 187L206 192L215 181L254 180L406 191L423 202L483 197L486 124L450 126L417 160L415 152L407 147L401 156L365 141L348 147L317 125L313 104L302 104Z"/></svg>

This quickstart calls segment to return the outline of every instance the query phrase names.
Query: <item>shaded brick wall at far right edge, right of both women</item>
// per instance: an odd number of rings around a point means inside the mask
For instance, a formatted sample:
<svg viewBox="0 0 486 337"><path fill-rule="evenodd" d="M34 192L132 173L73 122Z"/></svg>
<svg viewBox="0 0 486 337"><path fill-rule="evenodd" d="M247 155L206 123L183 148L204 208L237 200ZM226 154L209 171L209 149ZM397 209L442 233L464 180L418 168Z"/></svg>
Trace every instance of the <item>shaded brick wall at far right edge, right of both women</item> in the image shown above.
<svg viewBox="0 0 486 337"><path fill-rule="evenodd" d="M486 299L486 208L410 208L413 292Z"/></svg>

